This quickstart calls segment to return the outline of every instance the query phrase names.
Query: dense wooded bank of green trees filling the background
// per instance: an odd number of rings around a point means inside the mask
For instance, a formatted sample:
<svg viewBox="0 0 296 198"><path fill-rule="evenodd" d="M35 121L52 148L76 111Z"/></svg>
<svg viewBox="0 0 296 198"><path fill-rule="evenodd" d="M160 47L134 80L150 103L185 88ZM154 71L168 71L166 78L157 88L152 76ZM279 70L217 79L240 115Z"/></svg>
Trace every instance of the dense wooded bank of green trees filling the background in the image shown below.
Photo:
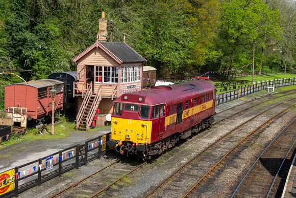
<svg viewBox="0 0 296 198"><path fill-rule="evenodd" d="M2 0L0 68L32 70L21 73L25 80L75 71L71 60L95 41L102 11L116 23L113 41L122 42L125 36L128 45L164 77L239 68L252 62L253 42L257 69L260 61L271 69L294 64L296 24L293 14L285 13L294 12L294 1L219 2ZM267 51L280 41L283 53L272 57Z"/></svg>

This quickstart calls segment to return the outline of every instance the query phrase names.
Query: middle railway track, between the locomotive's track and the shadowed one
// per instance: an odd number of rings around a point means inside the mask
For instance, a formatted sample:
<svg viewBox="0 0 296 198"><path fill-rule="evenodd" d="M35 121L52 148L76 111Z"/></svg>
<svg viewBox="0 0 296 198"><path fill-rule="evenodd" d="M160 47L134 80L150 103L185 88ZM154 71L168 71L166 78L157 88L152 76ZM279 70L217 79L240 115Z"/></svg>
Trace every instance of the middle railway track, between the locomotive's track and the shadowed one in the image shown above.
<svg viewBox="0 0 296 198"><path fill-rule="evenodd" d="M226 135L215 141L213 144L208 146L206 149L204 149L202 152L200 152L198 155L194 156L191 160L189 160L184 166L180 167L176 171L174 171L172 174L169 175L165 180L163 180L157 187L152 189L149 193L147 193L144 197L149 196L160 196L160 194L163 194L165 192L169 192L169 190L174 191L174 194L171 194L171 196L176 197L176 191L178 191L178 195L184 193L184 186L185 182L192 183L191 180L198 180L198 184L206 178L209 173L215 169L222 161L226 158L229 153L231 153L232 150L234 150L239 143L241 143L243 140L248 139L247 137L252 136L252 134L255 134L255 131L258 131L260 127L265 127L264 123L261 124L261 126L256 125L256 122L259 122L259 120L262 120L262 116L266 112L272 111L274 108L278 108L278 111L282 111L282 105L284 103L288 104L290 102L293 103L295 99L292 98L289 101L281 102L277 104L276 106L272 108L265 109L262 113L259 115L251 118L250 120L246 121L243 124L239 124L239 126L230 132L228 132ZM293 104L292 104L293 105ZM245 114L245 113L244 113ZM281 114L281 113L278 113ZM261 115L261 116L260 116ZM254 120L257 118L257 121L254 122ZM269 119L268 119L269 120ZM266 121L267 123L268 121ZM248 123L248 124L247 124ZM257 126L257 128L252 131L251 133L246 133L246 131L250 131L250 128L254 128L254 126ZM261 128L260 128L261 129ZM261 129L262 130L262 129ZM256 137L259 136L260 133L257 132L257 135L253 135L251 139L248 139L248 144L250 145L253 141L256 140ZM233 144L228 144L229 142L236 143L234 146ZM238 143L237 143L238 142ZM246 144L244 147L246 147L248 144ZM228 146L225 146L228 145ZM232 146L231 146L232 145ZM231 148L231 149L230 149ZM223 154L224 153L224 154ZM225 155L226 153L226 155ZM221 157L222 156L222 157ZM212 164L214 163L214 166ZM198 184L195 184L196 187ZM174 190L170 188L170 186L174 186ZM185 185L186 186L186 185ZM194 187L194 188L195 188ZM193 190L192 188L191 190ZM155 194L154 194L155 193ZM186 193L187 194L187 193ZM196 195L196 194L195 194ZM170 194L168 195L170 196ZM187 195L186 195L187 196Z"/></svg>

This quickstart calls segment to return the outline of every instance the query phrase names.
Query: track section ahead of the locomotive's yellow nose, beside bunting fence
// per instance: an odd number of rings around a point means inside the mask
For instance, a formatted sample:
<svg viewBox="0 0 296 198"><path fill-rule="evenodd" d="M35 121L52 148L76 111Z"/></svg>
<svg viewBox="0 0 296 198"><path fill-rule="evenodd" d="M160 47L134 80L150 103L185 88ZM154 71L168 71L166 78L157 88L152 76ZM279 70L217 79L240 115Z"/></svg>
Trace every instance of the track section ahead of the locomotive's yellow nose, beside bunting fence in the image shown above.
<svg viewBox="0 0 296 198"><path fill-rule="evenodd" d="M50 197L98 197L102 193L106 193L112 185L116 185L122 178L146 164L144 162L134 168L134 166L123 164L122 161L125 159L121 158L110 163ZM102 177L104 177L104 180L102 180ZM104 182L100 183L100 181Z"/></svg>

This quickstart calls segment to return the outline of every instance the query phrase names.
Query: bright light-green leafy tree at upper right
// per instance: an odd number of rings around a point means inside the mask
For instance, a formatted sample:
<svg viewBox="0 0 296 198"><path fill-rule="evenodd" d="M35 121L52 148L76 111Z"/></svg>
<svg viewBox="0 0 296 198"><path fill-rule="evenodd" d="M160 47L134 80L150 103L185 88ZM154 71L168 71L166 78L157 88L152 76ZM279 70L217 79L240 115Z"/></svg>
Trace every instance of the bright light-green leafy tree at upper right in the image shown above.
<svg viewBox="0 0 296 198"><path fill-rule="evenodd" d="M240 48L243 46L264 46L262 40L266 37L279 39L278 12L270 10L261 0L232 0L221 7L220 33L227 40L229 56L233 57L226 63L227 70L234 68L235 62L241 58Z"/></svg>

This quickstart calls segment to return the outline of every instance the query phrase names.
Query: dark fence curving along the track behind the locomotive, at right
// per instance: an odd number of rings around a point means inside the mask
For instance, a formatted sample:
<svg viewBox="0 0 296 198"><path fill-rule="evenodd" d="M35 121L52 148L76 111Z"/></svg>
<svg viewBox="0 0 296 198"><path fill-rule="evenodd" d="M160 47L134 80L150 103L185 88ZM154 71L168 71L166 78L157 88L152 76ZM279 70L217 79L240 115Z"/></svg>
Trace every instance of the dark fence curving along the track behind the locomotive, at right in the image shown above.
<svg viewBox="0 0 296 198"><path fill-rule="evenodd" d="M257 81L256 84L242 87L241 89L233 90L227 93L216 95L216 105L227 103L229 101L259 92L261 90L267 90L268 87L281 87L296 84L296 77L289 79L275 79L275 80L263 80ZM272 88L269 88L272 89Z"/></svg>

